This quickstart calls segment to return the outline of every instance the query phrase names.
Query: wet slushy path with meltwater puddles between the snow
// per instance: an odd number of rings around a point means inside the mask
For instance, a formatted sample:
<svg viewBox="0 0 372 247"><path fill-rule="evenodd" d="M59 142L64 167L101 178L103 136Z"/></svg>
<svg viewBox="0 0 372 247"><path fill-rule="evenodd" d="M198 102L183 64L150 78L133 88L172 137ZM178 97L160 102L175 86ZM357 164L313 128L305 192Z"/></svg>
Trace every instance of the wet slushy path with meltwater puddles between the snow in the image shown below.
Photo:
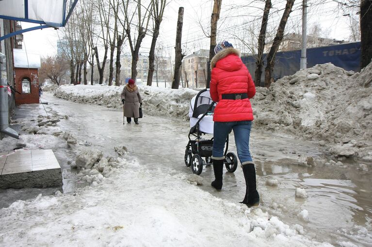
<svg viewBox="0 0 372 247"><path fill-rule="evenodd" d="M192 173L183 161L190 129L188 122L147 116L145 108L140 124L123 124L122 111L117 109L73 103L49 93L44 93L42 100L48 105L39 105L35 109L37 114L46 115L48 112L49 115L68 116L59 123L61 129L86 140L87 145L100 149L105 155L115 155L114 146L126 146L139 163L150 170ZM21 112L18 111L16 116L21 116ZM323 160L328 160L330 156L317 143L290 136L258 133L253 129L250 147L256 162L260 207L264 211L279 216L285 223L303 226L306 234L317 241L327 241L336 246L340 241L350 241L358 246L368 246L371 236L360 237L357 231L360 230L358 226L369 231L372 229L372 175L369 172L362 174L356 169L358 163L353 161L347 168L323 164L298 166L300 155ZM236 154L232 135L229 151ZM56 152L56 156L64 168L64 192L69 193L82 186L67 164L72 155L66 151ZM200 176L204 178L201 189L237 204L243 199L245 185L239 167L234 173L224 173L224 186L220 192L210 186L214 178L211 166L204 167ZM276 179L278 186L265 185L268 179ZM296 187L305 188L308 198L295 198ZM35 191L40 193L40 190ZM297 217L303 209L308 211L309 222Z"/></svg>

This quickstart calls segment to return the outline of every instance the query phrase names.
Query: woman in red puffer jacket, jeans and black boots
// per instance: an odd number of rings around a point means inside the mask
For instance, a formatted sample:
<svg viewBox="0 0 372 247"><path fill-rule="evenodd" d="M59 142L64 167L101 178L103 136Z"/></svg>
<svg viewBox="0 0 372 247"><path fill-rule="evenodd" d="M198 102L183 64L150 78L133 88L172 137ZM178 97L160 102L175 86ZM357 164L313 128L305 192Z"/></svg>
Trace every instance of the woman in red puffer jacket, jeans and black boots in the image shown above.
<svg viewBox="0 0 372 247"><path fill-rule="evenodd" d="M240 51L227 41L214 48L216 55L210 61L210 96L217 102L214 109L212 186L222 188L224 147L228 134L234 131L238 157L242 163L246 184L245 197L241 203L248 207L259 205L256 188L256 170L249 152L249 136L253 111L249 101L256 93L255 84L247 67L240 58Z"/></svg>

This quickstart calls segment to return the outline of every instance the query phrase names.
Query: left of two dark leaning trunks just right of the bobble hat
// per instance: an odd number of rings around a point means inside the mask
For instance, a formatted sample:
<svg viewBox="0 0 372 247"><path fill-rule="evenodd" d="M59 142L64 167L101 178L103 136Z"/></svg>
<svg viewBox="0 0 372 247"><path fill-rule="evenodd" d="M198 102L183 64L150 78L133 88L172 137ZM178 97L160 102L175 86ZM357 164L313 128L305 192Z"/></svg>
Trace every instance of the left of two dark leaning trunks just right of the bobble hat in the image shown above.
<svg viewBox="0 0 372 247"><path fill-rule="evenodd" d="M265 9L263 10L261 30L259 31L259 44L257 52L257 61L256 61L256 71L255 71L255 85L256 87L261 87L261 75L263 67L263 48L265 47L265 38L266 38L266 28L267 20L269 18L269 13L271 9L271 0L266 0Z"/></svg>

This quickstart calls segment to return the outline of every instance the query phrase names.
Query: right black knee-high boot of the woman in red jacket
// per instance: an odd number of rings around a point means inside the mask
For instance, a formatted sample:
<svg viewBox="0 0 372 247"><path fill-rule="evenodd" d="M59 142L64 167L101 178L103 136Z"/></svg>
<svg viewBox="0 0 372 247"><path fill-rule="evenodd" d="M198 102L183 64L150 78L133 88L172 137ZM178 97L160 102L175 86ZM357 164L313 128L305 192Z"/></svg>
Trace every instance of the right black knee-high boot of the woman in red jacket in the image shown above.
<svg viewBox="0 0 372 247"><path fill-rule="evenodd" d="M243 165L243 174L245 179L245 197L240 203L246 204L248 207L259 205L259 192L256 187L256 170L254 164Z"/></svg>

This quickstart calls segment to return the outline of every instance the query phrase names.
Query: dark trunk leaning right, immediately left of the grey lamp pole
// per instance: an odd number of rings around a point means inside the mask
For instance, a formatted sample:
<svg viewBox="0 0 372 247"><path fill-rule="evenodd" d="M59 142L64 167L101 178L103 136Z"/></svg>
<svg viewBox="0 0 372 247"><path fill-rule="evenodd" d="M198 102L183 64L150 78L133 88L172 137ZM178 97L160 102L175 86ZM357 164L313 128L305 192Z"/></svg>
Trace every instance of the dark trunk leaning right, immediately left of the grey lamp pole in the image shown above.
<svg viewBox="0 0 372 247"><path fill-rule="evenodd" d="M284 29L287 24L288 17L291 14L292 7L293 7L294 0L287 0L286 8L284 10L284 13L282 15L282 18L279 23L278 30L276 32L273 45L270 48L269 54L267 55L267 65L265 68L265 87L269 88L270 84L273 82L273 78L271 76L274 65L275 65L275 54L276 51L279 48L280 43L283 40L284 36Z"/></svg>

